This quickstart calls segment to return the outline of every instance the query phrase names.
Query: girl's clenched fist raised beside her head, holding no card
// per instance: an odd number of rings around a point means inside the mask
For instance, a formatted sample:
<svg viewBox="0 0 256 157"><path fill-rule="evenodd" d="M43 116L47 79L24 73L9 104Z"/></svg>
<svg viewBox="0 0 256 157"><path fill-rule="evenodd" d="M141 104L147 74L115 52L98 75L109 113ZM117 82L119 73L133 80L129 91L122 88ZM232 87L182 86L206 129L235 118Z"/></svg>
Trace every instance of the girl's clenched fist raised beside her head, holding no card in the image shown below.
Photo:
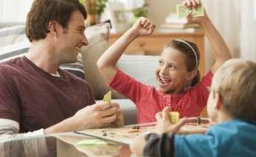
<svg viewBox="0 0 256 157"><path fill-rule="evenodd" d="M149 36L154 32L156 25L144 17L140 17L138 21L131 27L135 36Z"/></svg>

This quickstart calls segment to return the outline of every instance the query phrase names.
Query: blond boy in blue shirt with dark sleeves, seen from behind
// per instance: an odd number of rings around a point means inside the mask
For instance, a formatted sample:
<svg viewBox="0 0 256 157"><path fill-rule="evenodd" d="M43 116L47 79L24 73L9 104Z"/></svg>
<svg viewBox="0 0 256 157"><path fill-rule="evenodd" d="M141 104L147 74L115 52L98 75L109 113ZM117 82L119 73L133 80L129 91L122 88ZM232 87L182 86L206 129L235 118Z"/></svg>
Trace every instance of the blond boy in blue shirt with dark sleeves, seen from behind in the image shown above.
<svg viewBox="0 0 256 157"><path fill-rule="evenodd" d="M256 156L255 97L256 63L226 61L212 81L207 111L216 125L206 135L174 134L186 120L171 124L166 107L156 115L158 133L163 134L138 136L131 150L144 156Z"/></svg>

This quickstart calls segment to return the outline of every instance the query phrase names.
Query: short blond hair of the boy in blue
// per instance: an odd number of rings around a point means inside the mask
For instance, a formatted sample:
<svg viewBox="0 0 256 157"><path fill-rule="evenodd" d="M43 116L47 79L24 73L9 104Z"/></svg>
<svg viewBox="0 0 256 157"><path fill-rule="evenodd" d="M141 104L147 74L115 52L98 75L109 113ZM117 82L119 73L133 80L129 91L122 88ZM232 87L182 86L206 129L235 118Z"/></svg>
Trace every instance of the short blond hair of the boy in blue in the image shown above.
<svg viewBox="0 0 256 157"><path fill-rule="evenodd" d="M256 63L243 59L226 61L211 84L223 107L234 118L256 123Z"/></svg>

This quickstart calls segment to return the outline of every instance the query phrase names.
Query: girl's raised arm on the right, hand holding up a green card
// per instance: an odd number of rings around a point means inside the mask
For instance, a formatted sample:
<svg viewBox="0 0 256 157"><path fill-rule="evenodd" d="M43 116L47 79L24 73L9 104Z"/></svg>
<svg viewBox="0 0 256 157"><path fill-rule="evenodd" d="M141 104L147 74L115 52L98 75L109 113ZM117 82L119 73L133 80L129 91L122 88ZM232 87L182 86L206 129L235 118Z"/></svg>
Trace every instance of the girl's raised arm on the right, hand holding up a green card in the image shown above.
<svg viewBox="0 0 256 157"><path fill-rule="evenodd" d="M200 1L188 0L184 1L183 4L185 4L186 7L199 7ZM207 16L206 10L204 10L204 14L205 15L203 17L197 18L193 18L191 14L189 14L187 16L187 19L188 22L200 24L203 32L209 39L211 47L213 48L214 57L216 59L215 64L213 65L213 67L211 67L211 72L214 73L217 68L220 67L221 64L223 64L223 62L228 59L232 59L232 54L230 53L229 47L227 46L223 37L220 35L220 33L214 27L214 24L212 24L211 20Z"/></svg>

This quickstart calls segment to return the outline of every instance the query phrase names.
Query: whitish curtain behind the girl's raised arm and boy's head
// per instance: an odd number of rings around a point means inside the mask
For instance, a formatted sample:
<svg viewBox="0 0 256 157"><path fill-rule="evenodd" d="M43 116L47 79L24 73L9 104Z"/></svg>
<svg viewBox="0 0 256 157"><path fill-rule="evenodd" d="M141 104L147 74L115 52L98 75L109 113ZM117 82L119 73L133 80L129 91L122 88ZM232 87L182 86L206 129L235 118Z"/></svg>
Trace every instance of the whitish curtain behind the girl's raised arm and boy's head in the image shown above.
<svg viewBox="0 0 256 157"><path fill-rule="evenodd" d="M203 1L217 30L225 39L234 57L256 61L256 1ZM214 63L206 40L206 69Z"/></svg>

